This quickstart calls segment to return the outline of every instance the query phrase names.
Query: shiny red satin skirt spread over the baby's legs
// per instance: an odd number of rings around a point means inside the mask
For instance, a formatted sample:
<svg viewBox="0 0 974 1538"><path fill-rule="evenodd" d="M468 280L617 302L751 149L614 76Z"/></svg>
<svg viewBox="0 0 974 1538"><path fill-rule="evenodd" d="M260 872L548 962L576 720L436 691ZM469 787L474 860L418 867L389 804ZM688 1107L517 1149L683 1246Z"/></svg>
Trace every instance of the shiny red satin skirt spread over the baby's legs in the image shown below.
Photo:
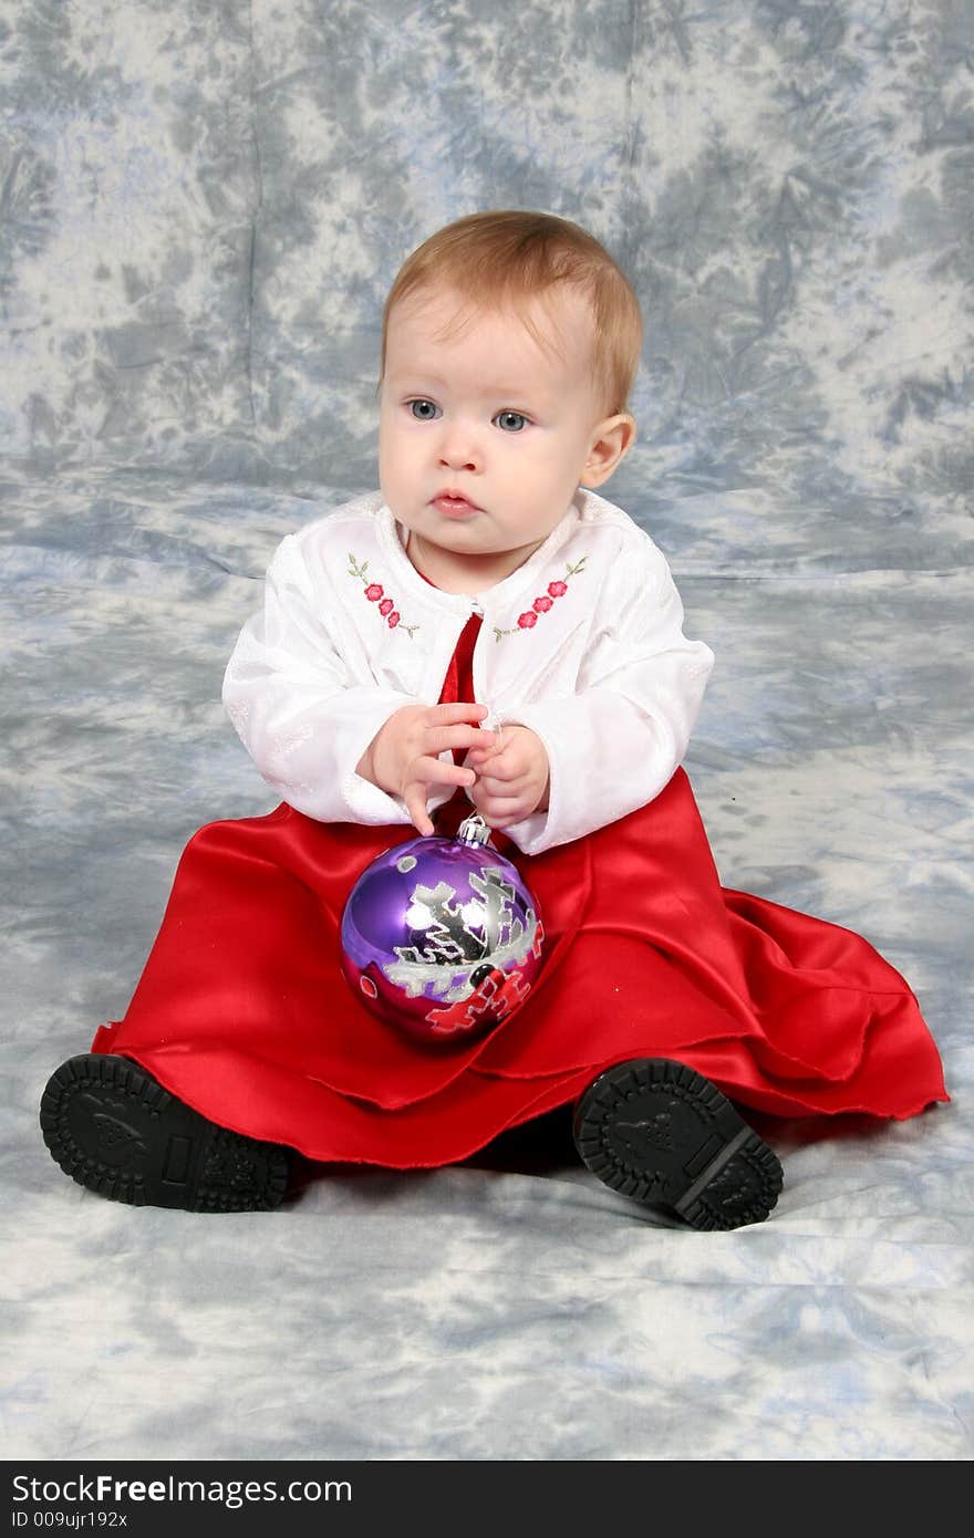
<svg viewBox="0 0 974 1538"><path fill-rule="evenodd" d="M634 1057L677 1058L783 1117L948 1100L911 989L866 940L720 886L682 769L557 849L495 838L539 903L545 969L486 1038L412 1041L345 981L340 924L365 866L414 837L286 804L202 827L129 1009L92 1050L237 1132L397 1169L466 1158Z"/></svg>

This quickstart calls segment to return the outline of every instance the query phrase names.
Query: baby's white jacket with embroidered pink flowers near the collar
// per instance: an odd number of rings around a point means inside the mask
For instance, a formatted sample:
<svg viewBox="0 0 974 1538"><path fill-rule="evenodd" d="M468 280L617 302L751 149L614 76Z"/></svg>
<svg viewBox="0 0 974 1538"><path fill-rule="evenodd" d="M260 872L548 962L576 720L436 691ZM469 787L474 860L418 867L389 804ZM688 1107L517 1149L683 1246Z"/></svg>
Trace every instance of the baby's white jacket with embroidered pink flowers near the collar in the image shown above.
<svg viewBox="0 0 974 1538"><path fill-rule="evenodd" d="M369 492L277 548L263 609L223 680L268 784L320 821L408 823L402 798L355 766L394 711L439 701L460 632L482 614L483 724L529 726L551 766L548 811L505 829L519 849L540 854L659 795L686 752L714 654L683 635L680 595L649 535L579 488L523 566L468 595L425 581L405 532ZM432 794L431 815L452 794Z"/></svg>

